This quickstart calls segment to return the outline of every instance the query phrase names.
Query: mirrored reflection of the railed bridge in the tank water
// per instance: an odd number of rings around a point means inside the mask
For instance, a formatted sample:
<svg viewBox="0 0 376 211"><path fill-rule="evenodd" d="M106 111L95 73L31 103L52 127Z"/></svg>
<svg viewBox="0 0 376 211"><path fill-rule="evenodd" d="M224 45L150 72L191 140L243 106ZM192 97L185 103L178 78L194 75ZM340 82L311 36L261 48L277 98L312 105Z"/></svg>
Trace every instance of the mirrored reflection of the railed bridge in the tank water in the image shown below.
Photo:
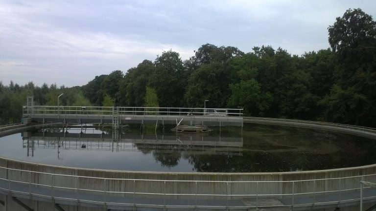
<svg viewBox="0 0 376 211"><path fill-rule="evenodd" d="M157 151L201 150L210 154L241 155L242 137L176 136L176 135L130 135L118 134L118 142L112 134L85 133L25 133L24 146L33 143L34 148L60 148L82 150ZM29 142L29 144L25 143ZM85 148L82 146L85 145Z"/></svg>

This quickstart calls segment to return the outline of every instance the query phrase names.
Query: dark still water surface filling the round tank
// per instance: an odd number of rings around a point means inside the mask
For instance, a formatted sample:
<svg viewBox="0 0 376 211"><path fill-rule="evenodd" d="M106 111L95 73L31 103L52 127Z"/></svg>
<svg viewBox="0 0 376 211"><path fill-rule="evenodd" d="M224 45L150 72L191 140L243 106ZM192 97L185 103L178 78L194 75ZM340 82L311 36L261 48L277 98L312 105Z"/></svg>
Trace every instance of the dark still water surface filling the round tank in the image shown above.
<svg viewBox="0 0 376 211"><path fill-rule="evenodd" d="M376 140L299 127L245 124L210 133L175 133L172 126L118 131L60 128L0 138L0 156L91 169L169 172L281 172L376 163ZM112 141L115 139L115 142ZM81 148L85 145L86 148Z"/></svg>

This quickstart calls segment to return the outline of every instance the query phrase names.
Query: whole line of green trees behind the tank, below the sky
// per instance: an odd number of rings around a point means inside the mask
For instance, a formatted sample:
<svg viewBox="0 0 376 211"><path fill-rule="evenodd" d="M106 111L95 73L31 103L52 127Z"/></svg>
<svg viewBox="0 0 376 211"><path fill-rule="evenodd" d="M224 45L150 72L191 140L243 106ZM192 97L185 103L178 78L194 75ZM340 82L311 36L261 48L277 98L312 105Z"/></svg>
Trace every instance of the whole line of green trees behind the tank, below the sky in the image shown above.
<svg viewBox="0 0 376 211"><path fill-rule="evenodd" d="M330 48L291 55L257 46L204 44L183 61L164 51L123 73L88 84L0 83L0 118L18 121L26 96L38 105L243 108L246 116L328 121L376 127L376 22L349 9L328 28Z"/></svg>

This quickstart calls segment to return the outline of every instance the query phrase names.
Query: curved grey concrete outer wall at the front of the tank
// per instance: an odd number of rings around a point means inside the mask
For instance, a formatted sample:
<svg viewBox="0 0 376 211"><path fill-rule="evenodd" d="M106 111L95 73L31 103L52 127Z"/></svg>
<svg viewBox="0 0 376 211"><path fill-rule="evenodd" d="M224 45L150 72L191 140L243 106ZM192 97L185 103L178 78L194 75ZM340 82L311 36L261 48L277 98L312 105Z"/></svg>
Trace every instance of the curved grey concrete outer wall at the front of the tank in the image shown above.
<svg viewBox="0 0 376 211"><path fill-rule="evenodd" d="M48 175L41 173L27 173L0 169L1 178L39 183L50 186L69 188L147 192L147 193L200 193L200 194L291 194L294 181L294 193L318 192L329 190L344 190L359 188L361 178L346 178L339 180L303 181L328 178L345 178L360 175L375 174L376 165L364 167L329 169L316 171L276 172L276 173L165 173L165 172L135 172L100 169L78 169L42 165L7 158L0 158L0 166L10 169L22 169L52 174L73 175L73 177ZM79 177L76 177L79 176ZM95 178L85 178L95 177ZM101 178L107 178L106 181ZM129 179L129 180L112 180ZM376 182L376 176L364 178ZM139 181L159 180L159 181ZM164 181L168 180L168 181ZM186 181L186 182L175 182ZM187 182L187 181L198 181ZM205 181L205 182L203 182ZM225 181L218 183L217 181ZM239 183L235 183L238 181ZM248 181L247 183L243 183ZM266 181L283 181L283 183L266 183ZM229 183L226 183L229 182ZM241 182L241 183L240 183ZM258 182L258 183L255 183ZM143 196L149 197L149 196ZM155 196L150 196L155 197ZM169 196L182 198L185 196ZM189 196L187 196L189 198ZM208 197L210 198L210 197ZM233 198L245 198L234 196Z"/></svg>

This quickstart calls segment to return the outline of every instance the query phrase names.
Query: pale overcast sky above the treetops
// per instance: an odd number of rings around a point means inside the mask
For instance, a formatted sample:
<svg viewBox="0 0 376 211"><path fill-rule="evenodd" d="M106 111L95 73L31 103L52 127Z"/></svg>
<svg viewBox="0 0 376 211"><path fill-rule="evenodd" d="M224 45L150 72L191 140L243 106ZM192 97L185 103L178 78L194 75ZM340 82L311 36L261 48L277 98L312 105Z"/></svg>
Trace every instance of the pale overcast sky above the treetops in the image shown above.
<svg viewBox="0 0 376 211"><path fill-rule="evenodd" d="M0 81L84 85L205 43L302 55L349 8L376 16L375 0L0 0Z"/></svg>

